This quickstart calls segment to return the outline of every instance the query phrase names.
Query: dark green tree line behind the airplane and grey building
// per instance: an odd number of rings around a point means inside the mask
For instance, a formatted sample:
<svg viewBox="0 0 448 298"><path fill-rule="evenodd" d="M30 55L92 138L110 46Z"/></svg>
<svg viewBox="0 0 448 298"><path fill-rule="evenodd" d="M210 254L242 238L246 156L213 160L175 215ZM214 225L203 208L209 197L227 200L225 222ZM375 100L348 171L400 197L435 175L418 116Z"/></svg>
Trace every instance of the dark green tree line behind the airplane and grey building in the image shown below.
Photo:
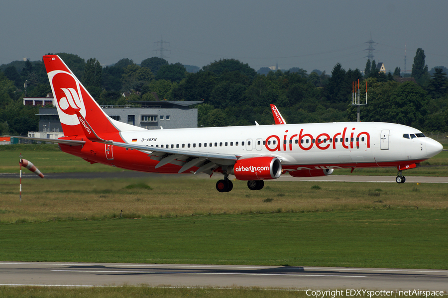
<svg viewBox="0 0 448 298"><path fill-rule="evenodd" d="M287 123L356 121L351 105L352 82L359 79L361 93L368 83L368 105L361 107L361 121L410 125L423 131L448 129L447 69L431 72L418 49L409 81L400 82L401 71L378 72L368 60L364 73L345 70L337 63L331 74L300 68L258 72L235 59L221 59L198 68L169 64L157 57L140 64L121 59L103 67L91 58L58 53L102 105L132 105L138 100L203 101L197 105L199 126L272 124L269 104L276 104ZM187 72L194 70L196 72ZM51 92L42 61L15 61L0 66L0 134L36 131L37 108L22 99ZM26 90L24 84L26 83ZM124 94L124 96L123 96Z"/></svg>

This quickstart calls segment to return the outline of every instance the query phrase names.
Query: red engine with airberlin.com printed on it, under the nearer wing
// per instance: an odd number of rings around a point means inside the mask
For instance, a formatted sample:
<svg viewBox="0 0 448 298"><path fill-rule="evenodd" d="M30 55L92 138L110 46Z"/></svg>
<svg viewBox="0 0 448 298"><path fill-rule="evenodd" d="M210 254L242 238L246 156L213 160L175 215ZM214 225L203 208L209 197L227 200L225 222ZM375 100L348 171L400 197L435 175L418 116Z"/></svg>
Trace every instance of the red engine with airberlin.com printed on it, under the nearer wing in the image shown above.
<svg viewBox="0 0 448 298"><path fill-rule="evenodd" d="M277 179L282 174L282 163L272 156L239 159L229 174L235 175L238 180Z"/></svg>

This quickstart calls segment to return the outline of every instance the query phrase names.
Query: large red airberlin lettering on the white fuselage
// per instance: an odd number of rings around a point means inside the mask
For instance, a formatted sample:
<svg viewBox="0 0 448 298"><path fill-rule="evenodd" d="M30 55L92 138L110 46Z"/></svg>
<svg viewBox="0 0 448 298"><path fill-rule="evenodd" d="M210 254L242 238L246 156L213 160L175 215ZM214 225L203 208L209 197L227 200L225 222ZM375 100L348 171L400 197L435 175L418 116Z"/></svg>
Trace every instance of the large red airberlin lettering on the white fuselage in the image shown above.
<svg viewBox="0 0 448 298"><path fill-rule="evenodd" d="M316 147L321 150L326 150L330 148L336 149L336 146L341 146L342 148L345 149L353 149L354 147L353 144L355 144L356 149L359 149L359 138L365 138L364 142L367 144L367 148L370 148L369 133L368 132L355 133L354 132L355 129L356 128L353 127L351 129L351 133L349 133L347 132L347 128L345 127L342 132L336 133L331 137L327 133L322 133L316 136L316 138L311 134L304 133L304 130L301 129L299 134L289 136L289 142L287 141L288 140L287 134L283 136L283 142L281 142L280 138L276 135L269 136L266 139L265 147L269 151L282 151L282 149L283 151L287 151L288 149L289 151L292 151L294 143L293 140L298 138L298 144L300 149L302 150L310 150L311 148L313 148L314 145L316 145ZM288 131L285 131L285 133L288 133ZM332 142L330 142L330 139L332 139ZM276 145L274 148L269 147L270 145L269 141L271 140L277 141L275 143L273 142L273 145ZM309 141L308 143L306 143L306 141L302 143L303 140L309 140ZM324 140L326 141L324 142ZM338 145L338 143L340 145ZM287 145L289 145L289 147Z"/></svg>

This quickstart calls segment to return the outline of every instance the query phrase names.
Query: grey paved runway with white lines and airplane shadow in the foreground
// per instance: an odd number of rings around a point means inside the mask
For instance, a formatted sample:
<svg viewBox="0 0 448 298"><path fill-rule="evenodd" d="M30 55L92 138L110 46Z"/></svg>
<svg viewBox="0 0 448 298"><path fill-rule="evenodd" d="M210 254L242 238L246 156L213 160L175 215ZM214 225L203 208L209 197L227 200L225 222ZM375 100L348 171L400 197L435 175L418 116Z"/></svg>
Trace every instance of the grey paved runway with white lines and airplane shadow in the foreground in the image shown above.
<svg viewBox="0 0 448 298"><path fill-rule="evenodd" d="M448 291L448 270L0 262L0 285Z"/></svg>

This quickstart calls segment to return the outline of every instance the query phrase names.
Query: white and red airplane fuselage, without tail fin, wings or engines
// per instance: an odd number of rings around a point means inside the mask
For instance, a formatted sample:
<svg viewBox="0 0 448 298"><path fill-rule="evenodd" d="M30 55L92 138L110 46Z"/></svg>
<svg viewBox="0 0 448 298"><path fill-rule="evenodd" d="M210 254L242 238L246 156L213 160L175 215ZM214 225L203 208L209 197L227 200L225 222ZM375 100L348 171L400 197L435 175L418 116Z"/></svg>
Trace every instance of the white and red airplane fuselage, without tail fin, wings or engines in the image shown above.
<svg viewBox="0 0 448 298"><path fill-rule="evenodd" d="M147 146L148 152L156 147L228 153L238 158L275 156L284 171L405 166L439 152L439 143L412 127L375 122L138 130L121 132L120 136L126 143ZM89 161L146 172L178 173L185 163L179 158L155 168L163 156L99 143L82 149L61 148ZM137 152L139 157L135 158Z"/></svg>

